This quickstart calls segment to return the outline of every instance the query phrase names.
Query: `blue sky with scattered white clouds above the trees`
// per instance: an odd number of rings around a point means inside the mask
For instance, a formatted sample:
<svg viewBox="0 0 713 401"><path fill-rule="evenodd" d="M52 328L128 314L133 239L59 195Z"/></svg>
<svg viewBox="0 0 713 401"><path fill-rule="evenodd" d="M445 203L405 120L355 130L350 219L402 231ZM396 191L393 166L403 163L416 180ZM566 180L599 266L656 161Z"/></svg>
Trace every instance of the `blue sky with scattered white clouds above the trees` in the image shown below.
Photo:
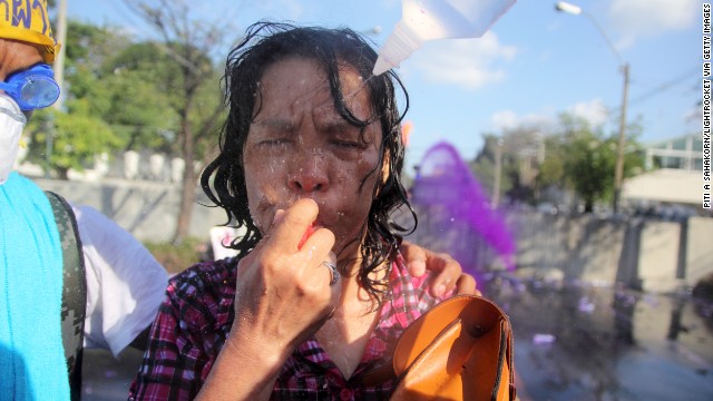
<svg viewBox="0 0 713 401"><path fill-rule="evenodd" d="M121 0L67 1L70 19L123 26L138 38L152 36ZM484 134L519 126L551 130L564 111L615 133L624 63L631 75L627 120L643 127L639 141L700 133L703 2L570 2L585 13L559 12L556 1L519 0L481 38L427 41L401 62L397 72L409 91L407 120L412 124L407 168L441 141L472 159ZM241 30L261 19L346 26L367 33L377 47L401 19L401 1L395 0L192 3L197 4L192 6L197 19L228 19Z"/></svg>

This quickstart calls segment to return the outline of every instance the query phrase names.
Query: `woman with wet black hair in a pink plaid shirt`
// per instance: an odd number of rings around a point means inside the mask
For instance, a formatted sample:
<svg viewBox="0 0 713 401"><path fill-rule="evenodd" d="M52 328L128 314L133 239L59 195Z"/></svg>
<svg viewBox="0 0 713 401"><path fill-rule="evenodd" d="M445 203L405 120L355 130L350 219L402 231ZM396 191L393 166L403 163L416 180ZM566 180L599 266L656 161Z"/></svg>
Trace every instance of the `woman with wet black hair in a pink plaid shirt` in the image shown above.
<svg viewBox="0 0 713 401"><path fill-rule="evenodd" d="M393 391L393 382L361 378L450 296L457 281L447 276L460 267L441 256L450 267L433 268L438 276L412 274L399 251L417 224L400 178L397 88L404 110L408 95L393 72L372 76L375 60L350 29L270 22L252 26L229 53L221 153L201 182L246 232L232 244L236 257L172 280L133 399L370 400ZM392 219L399 208L411 227ZM458 292L472 291L461 276Z"/></svg>

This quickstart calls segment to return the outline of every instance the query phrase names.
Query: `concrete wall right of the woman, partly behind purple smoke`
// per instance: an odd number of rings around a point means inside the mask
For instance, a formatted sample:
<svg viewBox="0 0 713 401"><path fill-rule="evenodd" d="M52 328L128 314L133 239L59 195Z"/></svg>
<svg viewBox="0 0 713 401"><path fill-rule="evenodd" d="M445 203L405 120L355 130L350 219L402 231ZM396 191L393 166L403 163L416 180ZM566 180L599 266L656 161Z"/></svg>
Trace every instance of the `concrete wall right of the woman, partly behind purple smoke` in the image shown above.
<svg viewBox="0 0 713 401"><path fill-rule="evenodd" d="M712 218L678 223L515 211L506 219L517 243L517 274L522 277L674 292L713 272ZM458 222L427 211L421 211L420 221L409 239L450 253L475 272L501 265L480 237ZM448 234L452 232L458 234ZM470 255L462 252L468 246Z"/></svg>

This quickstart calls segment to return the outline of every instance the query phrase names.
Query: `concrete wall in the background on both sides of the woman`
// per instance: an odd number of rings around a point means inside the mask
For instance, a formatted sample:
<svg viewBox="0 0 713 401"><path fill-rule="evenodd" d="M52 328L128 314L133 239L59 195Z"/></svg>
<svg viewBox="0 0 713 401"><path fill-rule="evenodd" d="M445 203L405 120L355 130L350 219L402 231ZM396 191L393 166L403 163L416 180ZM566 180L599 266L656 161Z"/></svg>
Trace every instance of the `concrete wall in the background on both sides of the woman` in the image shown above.
<svg viewBox="0 0 713 401"><path fill-rule="evenodd" d="M141 241L168 241L174 234L179 200L175 184L124 179L36 182L72 203L94 206ZM197 187L196 194L191 235L207 241L209 229L224 223L225 215L218 208L203 206L208 200ZM694 285L713 271L713 218L692 217L685 223L613 221L531 211L509 212L506 218L517 242L518 273L524 276L623 283L671 292L681 285ZM480 237L442 213L421 213L419 229L407 238L449 252L469 270L501 265Z"/></svg>

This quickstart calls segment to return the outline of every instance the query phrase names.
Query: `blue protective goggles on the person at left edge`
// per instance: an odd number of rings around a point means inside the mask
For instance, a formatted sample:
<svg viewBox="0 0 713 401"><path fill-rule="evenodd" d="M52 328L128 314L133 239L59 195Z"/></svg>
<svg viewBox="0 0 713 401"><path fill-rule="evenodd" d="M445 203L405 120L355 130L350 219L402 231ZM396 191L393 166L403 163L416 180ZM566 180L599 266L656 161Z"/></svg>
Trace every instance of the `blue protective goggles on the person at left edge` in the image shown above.
<svg viewBox="0 0 713 401"><path fill-rule="evenodd" d="M43 108L59 98L59 85L55 81L52 69L38 63L16 72L0 82L0 89L14 100L22 111Z"/></svg>

